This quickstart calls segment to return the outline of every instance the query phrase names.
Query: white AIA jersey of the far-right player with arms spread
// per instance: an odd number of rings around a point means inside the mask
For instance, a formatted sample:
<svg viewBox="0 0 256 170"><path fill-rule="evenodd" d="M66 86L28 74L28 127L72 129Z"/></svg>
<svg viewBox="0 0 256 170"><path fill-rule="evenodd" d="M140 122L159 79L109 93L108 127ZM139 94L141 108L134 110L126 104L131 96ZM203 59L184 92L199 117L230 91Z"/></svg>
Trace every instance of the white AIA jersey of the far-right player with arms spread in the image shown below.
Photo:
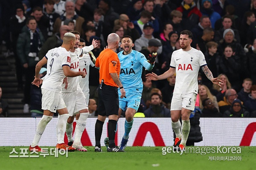
<svg viewBox="0 0 256 170"><path fill-rule="evenodd" d="M189 51L182 49L172 53L170 67L176 70L174 94L198 93L198 71L207 65L204 54L192 48Z"/></svg>

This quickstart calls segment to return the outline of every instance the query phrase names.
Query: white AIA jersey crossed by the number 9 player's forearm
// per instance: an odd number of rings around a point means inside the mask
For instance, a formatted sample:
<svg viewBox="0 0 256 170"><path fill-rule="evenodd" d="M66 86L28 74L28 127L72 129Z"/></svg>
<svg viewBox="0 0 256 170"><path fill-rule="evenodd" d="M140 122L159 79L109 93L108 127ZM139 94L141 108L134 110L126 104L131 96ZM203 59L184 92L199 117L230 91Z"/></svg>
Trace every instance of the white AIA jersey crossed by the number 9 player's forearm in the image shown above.
<svg viewBox="0 0 256 170"><path fill-rule="evenodd" d="M70 70L72 71L79 71L79 56L81 55L81 49L80 48L76 48L75 52L71 52L70 53L70 57L71 57L71 64L70 64ZM62 84L62 93L70 93L73 91L76 91L78 89L81 89L79 86L79 77L81 76L77 76L77 77L67 77L67 82L68 82L68 86L67 86L67 90L64 88L65 84Z"/></svg>

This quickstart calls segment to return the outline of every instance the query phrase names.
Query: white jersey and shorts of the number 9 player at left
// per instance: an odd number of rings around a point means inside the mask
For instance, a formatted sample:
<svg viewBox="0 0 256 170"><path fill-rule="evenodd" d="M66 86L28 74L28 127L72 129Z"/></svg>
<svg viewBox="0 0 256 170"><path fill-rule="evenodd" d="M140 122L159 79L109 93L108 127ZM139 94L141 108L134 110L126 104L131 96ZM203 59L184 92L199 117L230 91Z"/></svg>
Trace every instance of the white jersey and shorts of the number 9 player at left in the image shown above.
<svg viewBox="0 0 256 170"><path fill-rule="evenodd" d="M61 84L65 77L62 67L70 66L70 54L62 47L53 48L45 55L47 59L47 74L44 77L42 89L42 109L56 113L58 109L66 108L61 95Z"/></svg>

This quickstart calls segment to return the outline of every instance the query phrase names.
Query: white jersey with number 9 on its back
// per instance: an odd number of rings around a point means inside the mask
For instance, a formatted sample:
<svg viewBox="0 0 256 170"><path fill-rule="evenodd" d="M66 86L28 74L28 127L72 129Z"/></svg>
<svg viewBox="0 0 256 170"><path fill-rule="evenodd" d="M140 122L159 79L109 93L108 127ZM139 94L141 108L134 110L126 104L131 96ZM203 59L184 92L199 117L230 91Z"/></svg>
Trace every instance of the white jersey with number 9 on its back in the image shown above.
<svg viewBox="0 0 256 170"><path fill-rule="evenodd" d="M53 48L45 55L47 59L47 74L44 77L42 89L61 93L61 85L65 77L62 67L70 67L70 53L62 47Z"/></svg>

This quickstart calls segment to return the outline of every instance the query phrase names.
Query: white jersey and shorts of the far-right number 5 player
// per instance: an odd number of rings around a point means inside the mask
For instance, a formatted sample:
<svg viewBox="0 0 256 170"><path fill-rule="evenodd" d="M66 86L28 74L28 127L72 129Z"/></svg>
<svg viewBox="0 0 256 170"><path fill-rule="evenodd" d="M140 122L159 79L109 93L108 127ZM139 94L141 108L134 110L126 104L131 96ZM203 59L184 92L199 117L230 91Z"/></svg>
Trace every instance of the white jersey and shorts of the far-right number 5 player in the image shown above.
<svg viewBox="0 0 256 170"><path fill-rule="evenodd" d="M204 54L192 48L189 51L182 49L172 53L171 68L175 68L176 81L171 103L171 111L186 108L195 109L196 95L198 94L198 72L200 67L207 65Z"/></svg>

